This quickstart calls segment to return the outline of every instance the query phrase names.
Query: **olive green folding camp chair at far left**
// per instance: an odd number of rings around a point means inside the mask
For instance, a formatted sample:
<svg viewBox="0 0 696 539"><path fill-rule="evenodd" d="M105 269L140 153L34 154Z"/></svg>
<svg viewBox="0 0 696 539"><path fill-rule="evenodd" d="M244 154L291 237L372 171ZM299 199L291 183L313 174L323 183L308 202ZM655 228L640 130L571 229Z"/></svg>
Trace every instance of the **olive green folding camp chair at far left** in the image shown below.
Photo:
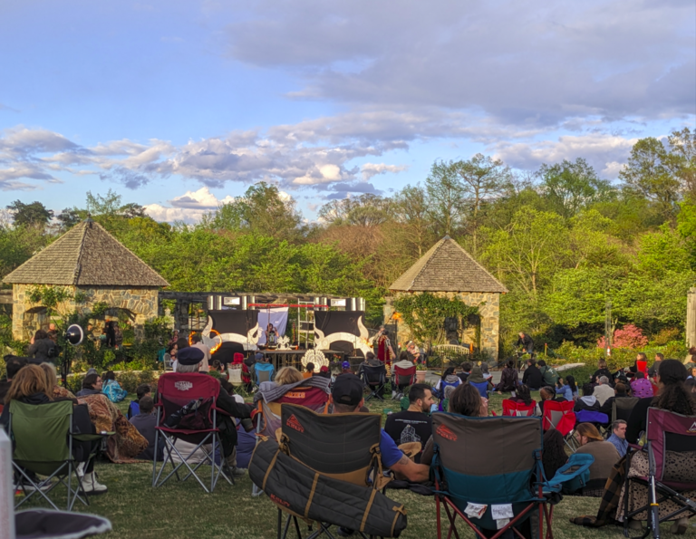
<svg viewBox="0 0 696 539"><path fill-rule="evenodd" d="M77 473L73 444L96 441L103 436L73 432L73 402L70 400L46 404L24 404L13 400L8 406L9 431L14 439L13 466L20 476L24 492L24 499L14 507L23 505L38 493L58 511L58 507L48 495L61 484L68 489L68 511L73 510L76 500L89 505ZM93 455L88 457L92 458ZM47 477L43 481L35 481L33 474ZM53 478L58 480L52 483ZM24 483L28 483L33 490L25 488ZM41 490L40 487L45 486L48 488L45 491Z"/></svg>

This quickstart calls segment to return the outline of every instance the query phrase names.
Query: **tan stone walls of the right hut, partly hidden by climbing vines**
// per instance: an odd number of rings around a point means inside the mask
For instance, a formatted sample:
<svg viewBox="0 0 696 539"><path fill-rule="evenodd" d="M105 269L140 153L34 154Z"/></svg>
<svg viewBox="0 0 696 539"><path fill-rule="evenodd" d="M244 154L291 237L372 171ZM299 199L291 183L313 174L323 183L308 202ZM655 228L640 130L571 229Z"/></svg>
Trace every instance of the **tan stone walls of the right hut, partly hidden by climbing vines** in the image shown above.
<svg viewBox="0 0 696 539"><path fill-rule="evenodd" d="M421 294L415 292L413 294ZM499 336L499 320L500 320L500 294L485 293L485 292L436 292L436 296L447 297L453 299L459 297L461 301L472 307L478 307L478 315L480 317L480 344L476 342L476 328L469 327L462 333L464 342L473 342L475 346L480 347L480 351L488 355L492 361L498 361L498 336ZM393 298L387 298L384 305L384 320L391 318L394 312L392 305ZM485 304L482 304L485 303ZM444 320L442 321L444 323ZM397 341L401 343L411 341L411 330L404 322L398 323Z"/></svg>

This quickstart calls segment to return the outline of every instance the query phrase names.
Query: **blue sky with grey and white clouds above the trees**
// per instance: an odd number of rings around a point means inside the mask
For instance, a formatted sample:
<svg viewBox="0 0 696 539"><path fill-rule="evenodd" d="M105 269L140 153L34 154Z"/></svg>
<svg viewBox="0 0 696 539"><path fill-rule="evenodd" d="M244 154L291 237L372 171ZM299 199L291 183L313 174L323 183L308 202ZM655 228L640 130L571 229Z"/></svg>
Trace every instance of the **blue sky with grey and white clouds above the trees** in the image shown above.
<svg viewBox="0 0 696 539"><path fill-rule="evenodd" d="M192 223L266 181L313 220L478 152L615 180L683 127L693 0L0 3L0 207Z"/></svg>

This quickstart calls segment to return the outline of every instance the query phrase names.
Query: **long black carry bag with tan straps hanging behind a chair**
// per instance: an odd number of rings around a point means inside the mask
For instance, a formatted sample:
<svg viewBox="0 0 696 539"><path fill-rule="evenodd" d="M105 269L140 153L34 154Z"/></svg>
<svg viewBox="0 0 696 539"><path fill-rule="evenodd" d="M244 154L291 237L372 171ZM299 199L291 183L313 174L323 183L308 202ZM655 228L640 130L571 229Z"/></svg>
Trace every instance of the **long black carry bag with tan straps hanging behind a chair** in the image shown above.
<svg viewBox="0 0 696 539"><path fill-rule="evenodd" d="M364 534L398 537L406 510L376 489L323 476L261 437L249 462L249 476L286 513L306 521L339 525Z"/></svg>

